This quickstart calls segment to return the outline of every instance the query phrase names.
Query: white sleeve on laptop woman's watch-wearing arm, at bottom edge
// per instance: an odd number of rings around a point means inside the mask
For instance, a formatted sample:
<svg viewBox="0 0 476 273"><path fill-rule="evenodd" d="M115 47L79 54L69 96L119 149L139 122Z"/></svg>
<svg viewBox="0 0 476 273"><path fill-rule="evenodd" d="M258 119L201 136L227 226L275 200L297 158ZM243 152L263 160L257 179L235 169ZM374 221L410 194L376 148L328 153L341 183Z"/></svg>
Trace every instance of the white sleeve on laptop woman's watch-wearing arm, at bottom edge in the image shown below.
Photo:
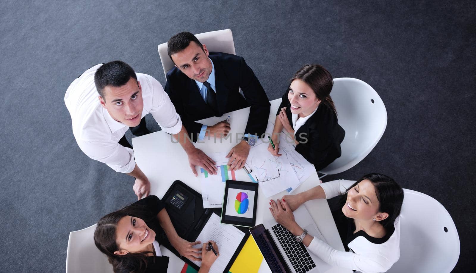
<svg viewBox="0 0 476 273"><path fill-rule="evenodd" d="M388 266L385 257L377 253L355 254L339 251L317 237L314 237L307 249L330 265L358 270L362 273L386 272L391 266L391 264Z"/></svg>

